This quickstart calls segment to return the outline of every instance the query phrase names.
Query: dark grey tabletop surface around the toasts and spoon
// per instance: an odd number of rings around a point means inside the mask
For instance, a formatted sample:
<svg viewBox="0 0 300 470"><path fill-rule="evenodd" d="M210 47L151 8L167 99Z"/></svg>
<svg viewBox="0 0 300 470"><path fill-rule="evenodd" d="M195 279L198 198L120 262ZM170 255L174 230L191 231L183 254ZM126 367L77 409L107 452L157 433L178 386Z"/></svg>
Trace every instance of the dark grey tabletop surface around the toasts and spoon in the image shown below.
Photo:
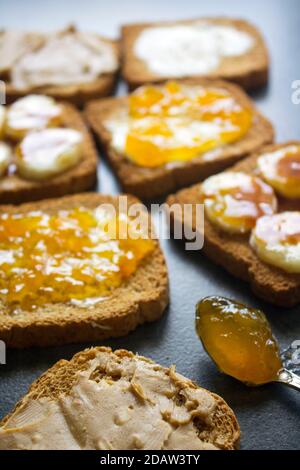
<svg viewBox="0 0 300 470"><path fill-rule="evenodd" d="M246 18L262 30L271 54L269 86L253 94L253 98L273 121L277 140L283 141L300 137L300 105L291 101L292 81L300 79L299 7L297 0L0 0L0 27L51 30L74 21L82 28L114 37L118 27L130 21L223 14ZM120 92L124 92L124 86L120 86ZM99 191L118 191L105 162L99 176ZM196 337L194 307L201 297L211 294L261 307L282 347L300 339L300 307L293 310L271 307L201 253L184 252L181 245L171 241L163 242L163 249L170 273L170 308L160 321L105 344L137 351L165 365L175 363L179 372L223 396L239 419L243 449L299 449L299 393L279 384L250 389L221 375ZM70 358L86 346L89 344L9 351L7 365L0 366L0 418L11 410L36 377L57 360Z"/></svg>

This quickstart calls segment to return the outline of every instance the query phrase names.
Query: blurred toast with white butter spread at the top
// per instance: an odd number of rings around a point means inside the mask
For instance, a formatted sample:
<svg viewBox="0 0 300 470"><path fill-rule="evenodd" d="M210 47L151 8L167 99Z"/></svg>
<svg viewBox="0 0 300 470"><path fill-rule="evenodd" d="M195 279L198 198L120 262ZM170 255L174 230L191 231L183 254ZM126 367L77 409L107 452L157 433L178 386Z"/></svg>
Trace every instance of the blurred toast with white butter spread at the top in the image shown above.
<svg viewBox="0 0 300 470"><path fill-rule="evenodd" d="M122 28L122 75L131 89L170 79L208 77L257 88L268 80L264 39L247 21L199 18Z"/></svg>

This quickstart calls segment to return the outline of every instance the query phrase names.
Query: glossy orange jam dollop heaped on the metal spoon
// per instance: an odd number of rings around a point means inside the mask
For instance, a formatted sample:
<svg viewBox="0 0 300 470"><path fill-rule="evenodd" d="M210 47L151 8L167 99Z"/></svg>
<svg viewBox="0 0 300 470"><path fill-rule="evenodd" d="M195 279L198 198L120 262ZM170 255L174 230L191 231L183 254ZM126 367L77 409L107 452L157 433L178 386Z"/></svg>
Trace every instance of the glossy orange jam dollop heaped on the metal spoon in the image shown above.
<svg viewBox="0 0 300 470"><path fill-rule="evenodd" d="M224 297L196 307L196 330L218 368L247 385L276 380L282 368L278 344L260 310Z"/></svg>

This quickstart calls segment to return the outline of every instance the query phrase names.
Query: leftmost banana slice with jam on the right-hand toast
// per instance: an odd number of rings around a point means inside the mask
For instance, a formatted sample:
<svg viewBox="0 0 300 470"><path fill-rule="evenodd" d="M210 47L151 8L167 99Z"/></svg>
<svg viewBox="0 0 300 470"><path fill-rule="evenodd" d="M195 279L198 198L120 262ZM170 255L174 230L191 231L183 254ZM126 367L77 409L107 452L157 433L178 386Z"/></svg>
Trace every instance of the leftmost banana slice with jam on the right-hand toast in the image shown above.
<svg viewBox="0 0 300 470"><path fill-rule="evenodd" d="M256 220L277 209L273 189L260 178L238 172L224 172L207 178L201 185L208 219L229 233L246 233Z"/></svg>

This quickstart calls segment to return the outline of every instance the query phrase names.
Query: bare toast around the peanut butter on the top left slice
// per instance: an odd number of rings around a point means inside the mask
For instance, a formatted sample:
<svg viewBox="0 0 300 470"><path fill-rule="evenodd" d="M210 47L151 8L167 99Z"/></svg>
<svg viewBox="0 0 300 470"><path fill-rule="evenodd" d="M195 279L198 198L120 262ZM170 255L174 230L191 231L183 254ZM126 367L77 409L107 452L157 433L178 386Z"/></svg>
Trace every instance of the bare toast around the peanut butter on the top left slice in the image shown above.
<svg viewBox="0 0 300 470"><path fill-rule="evenodd" d="M5 32L5 30L4 30ZM65 33L76 33L77 28L73 25L68 26L63 31L59 32L58 34L65 34ZM25 33L26 34L26 33ZM30 35L30 33L27 33ZM40 47L42 47L47 41L50 35L42 35L41 33L32 33L33 37L40 38L40 44L36 40L36 44L33 44L31 51L38 51ZM120 47L119 42L115 40L110 40L108 38L102 37L97 35L104 43L109 44L111 47L112 53L117 63L120 61ZM42 40L44 38L44 40ZM26 39L28 41L28 39ZM31 39L32 41L32 39ZM26 51L24 48L21 57L18 57L18 60L22 59L22 57L27 53L30 52ZM17 61L16 61L17 62ZM1 63L0 63L1 66ZM87 83L76 83L76 84L64 84L64 85L41 85L41 86L33 86L27 88L20 88L17 87L11 78L12 75L12 68L15 66L11 64L11 67L7 70L3 70L1 74L1 67L0 67L0 78L5 81L6 85L6 100L7 103L11 103L16 99L26 96L28 94L43 94L52 96L58 100L66 100L75 106L83 106L87 101L95 98L101 98L104 96L109 96L113 93L113 90L116 85L117 75L118 75L118 67L113 72L104 72L100 74L95 80L89 81Z"/></svg>

